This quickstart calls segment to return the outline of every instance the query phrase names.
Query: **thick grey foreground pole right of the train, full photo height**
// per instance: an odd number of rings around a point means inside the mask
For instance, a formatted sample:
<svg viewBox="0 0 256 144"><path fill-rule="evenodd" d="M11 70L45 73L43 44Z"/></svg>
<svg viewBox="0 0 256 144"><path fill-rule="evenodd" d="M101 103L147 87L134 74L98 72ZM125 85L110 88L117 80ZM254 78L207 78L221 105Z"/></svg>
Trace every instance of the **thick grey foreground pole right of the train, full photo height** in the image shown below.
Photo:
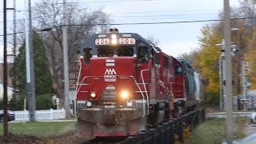
<svg viewBox="0 0 256 144"><path fill-rule="evenodd" d="M232 98L232 73L231 73L231 50L230 50L230 2L224 0L224 38L225 38L225 66L226 70L226 142L233 143L233 98Z"/></svg>

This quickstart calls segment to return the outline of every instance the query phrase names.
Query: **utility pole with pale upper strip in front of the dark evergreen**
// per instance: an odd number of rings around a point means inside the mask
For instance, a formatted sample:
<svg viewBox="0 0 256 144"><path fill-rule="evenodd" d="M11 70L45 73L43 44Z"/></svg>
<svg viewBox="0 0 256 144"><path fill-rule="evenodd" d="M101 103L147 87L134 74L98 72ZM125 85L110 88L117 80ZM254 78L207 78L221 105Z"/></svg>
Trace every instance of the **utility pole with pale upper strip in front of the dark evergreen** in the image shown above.
<svg viewBox="0 0 256 144"><path fill-rule="evenodd" d="M30 121L35 121L35 88L34 88L34 50L31 24L31 5L25 0L26 10L29 12L29 19L25 19L26 31L26 91L29 99ZM26 11L27 15L27 11Z"/></svg>

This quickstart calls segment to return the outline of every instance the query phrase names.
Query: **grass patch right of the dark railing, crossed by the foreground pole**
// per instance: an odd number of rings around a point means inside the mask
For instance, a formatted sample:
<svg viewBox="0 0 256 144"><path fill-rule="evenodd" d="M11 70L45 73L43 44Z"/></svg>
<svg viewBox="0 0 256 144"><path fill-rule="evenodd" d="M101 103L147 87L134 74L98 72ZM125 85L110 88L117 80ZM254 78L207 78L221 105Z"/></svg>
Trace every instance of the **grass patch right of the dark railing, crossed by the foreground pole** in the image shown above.
<svg viewBox="0 0 256 144"><path fill-rule="evenodd" d="M243 138L243 127L247 118L234 118L234 139ZM226 138L226 118L209 118L192 131L190 139L185 144L219 144Z"/></svg>

